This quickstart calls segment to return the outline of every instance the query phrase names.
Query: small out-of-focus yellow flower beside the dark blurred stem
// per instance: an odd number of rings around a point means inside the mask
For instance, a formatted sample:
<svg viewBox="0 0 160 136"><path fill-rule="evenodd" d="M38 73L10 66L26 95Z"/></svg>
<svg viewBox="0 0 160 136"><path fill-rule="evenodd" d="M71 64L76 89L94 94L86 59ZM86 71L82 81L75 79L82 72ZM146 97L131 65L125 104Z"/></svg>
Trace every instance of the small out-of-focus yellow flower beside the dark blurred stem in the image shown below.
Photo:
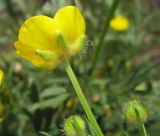
<svg viewBox="0 0 160 136"><path fill-rule="evenodd" d="M110 21L110 27L118 32L125 31L129 27L129 21L123 16L116 16Z"/></svg>

